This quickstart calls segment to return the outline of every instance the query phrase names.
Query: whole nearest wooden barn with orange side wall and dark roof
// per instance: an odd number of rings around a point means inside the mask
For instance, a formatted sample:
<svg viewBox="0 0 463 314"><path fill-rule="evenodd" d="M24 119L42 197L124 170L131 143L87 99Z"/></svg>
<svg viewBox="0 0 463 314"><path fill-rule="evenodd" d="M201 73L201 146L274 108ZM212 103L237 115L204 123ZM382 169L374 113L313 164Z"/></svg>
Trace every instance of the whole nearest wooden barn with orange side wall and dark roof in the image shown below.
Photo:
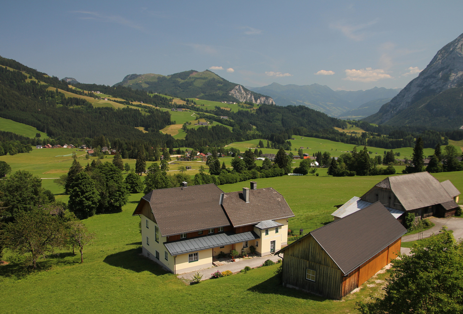
<svg viewBox="0 0 463 314"><path fill-rule="evenodd" d="M283 286L340 300L397 257L407 232L380 202L282 248Z"/></svg>

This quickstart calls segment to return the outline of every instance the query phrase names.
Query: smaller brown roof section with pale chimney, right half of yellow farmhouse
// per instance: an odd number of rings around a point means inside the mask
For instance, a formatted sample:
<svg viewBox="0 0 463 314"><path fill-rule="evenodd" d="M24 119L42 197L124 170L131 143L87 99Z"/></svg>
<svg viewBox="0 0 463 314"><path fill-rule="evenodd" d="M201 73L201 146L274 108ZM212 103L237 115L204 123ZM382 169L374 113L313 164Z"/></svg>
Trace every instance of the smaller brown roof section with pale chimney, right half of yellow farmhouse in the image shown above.
<svg viewBox="0 0 463 314"><path fill-rule="evenodd" d="M222 206L233 227L294 217L285 198L273 188L250 190L249 203L244 201L243 192L225 193Z"/></svg>

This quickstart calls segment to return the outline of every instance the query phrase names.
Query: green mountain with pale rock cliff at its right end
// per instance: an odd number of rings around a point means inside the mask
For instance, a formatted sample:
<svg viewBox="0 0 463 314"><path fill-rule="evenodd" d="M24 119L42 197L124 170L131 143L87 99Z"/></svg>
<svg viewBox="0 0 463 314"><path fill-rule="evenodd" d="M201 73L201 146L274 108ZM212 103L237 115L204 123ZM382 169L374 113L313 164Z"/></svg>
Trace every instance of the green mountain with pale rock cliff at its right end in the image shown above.
<svg viewBox="0 0 463 314"><path fill-rule="evenodd" d="M172 75L130 74L114 86L152 91L181 98L198 98L213 101L252 101L256 104L273 105L268 96L251 92L239 84L232 83L212 71L189 70ZM239 86L239 87L238 87Z"/></svg>

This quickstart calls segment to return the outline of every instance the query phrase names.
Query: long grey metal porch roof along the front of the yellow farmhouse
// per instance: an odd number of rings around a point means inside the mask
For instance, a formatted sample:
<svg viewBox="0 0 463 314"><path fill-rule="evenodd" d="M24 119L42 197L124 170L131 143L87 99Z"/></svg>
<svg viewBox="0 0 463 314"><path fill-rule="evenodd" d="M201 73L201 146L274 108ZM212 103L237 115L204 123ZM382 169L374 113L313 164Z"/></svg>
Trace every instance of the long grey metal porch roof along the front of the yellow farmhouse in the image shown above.
<svg viewBox="0 0 463 314"><path fill-rule="evenodd" d="M187 240L164 242L164 246L170 255L178 255L256 239L259 239L259 236L254 231L240 234L229 231Z"/></svg>

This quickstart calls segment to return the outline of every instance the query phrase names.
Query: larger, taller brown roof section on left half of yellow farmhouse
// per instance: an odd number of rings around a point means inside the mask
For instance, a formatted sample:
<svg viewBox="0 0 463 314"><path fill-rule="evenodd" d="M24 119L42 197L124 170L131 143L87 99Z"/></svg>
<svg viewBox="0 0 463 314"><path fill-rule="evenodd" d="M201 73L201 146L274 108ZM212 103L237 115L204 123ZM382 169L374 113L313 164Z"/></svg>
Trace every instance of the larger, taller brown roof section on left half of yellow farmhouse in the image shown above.
<svg viewBox="0 0 463 314"><path fill-rule="evenodd" d="M163 237L230 225L219 205L217 185L192 185L153 190L142 197L150 203Z"/></svg>

